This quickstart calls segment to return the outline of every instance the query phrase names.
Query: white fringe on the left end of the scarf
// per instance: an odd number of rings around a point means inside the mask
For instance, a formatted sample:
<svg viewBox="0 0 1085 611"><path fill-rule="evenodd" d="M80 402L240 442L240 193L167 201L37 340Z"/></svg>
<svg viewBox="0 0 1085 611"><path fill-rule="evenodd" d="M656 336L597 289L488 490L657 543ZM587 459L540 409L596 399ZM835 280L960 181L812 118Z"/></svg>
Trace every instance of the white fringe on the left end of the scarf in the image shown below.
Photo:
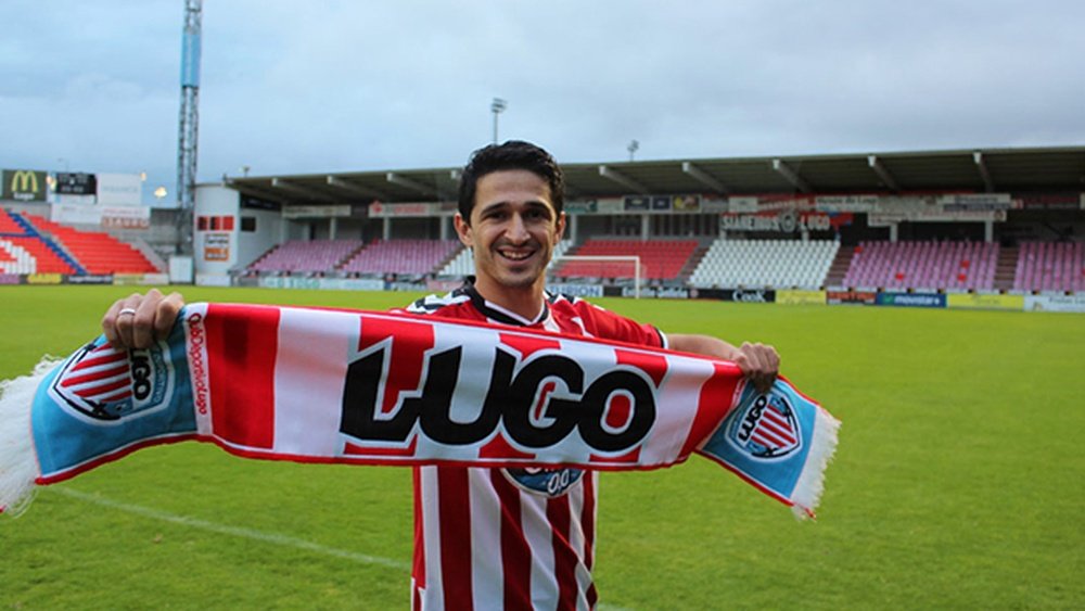
<svg viewBox="0 0 1085 611"><path fill-rule="evenodd" d="M18 515L34 500L34 482L40 475L30 433L34 394L46 375L60 362L46 357L34 373L0 380L0 511Z"/></svg>

